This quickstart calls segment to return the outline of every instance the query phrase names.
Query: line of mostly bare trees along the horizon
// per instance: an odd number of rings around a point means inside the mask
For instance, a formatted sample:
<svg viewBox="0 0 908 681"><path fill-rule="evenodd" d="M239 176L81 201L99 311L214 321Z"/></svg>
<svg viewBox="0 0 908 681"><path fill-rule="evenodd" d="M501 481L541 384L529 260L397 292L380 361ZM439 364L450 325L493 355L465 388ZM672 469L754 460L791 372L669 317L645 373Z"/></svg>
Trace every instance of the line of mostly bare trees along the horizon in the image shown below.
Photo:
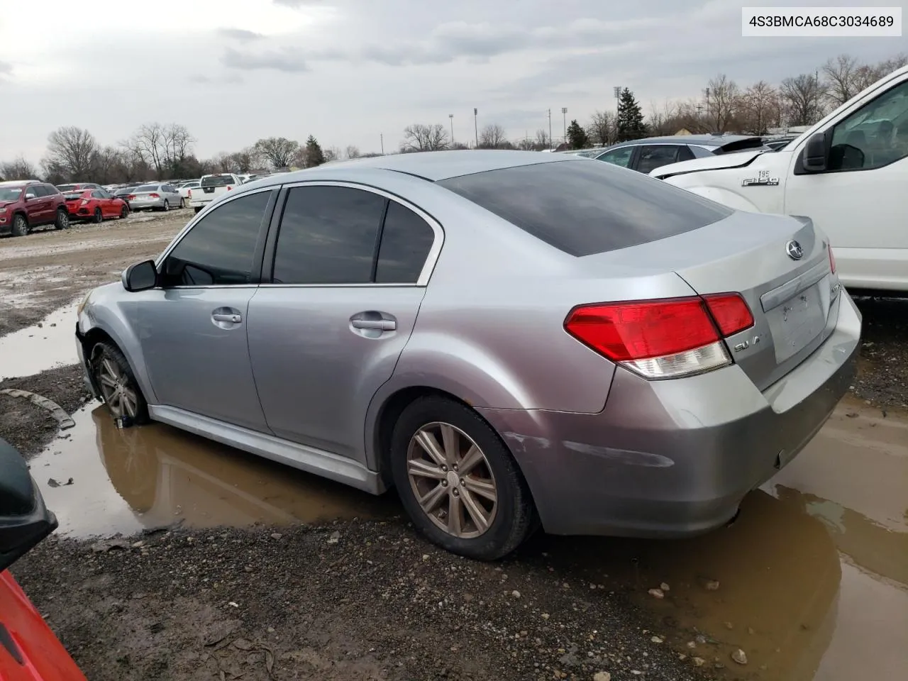
<svg viewBox="0 0 908 681"><path fill-rule="evenodd" d="M780 84L764 80L742 87L725 74L706 84L702 97L668 102L643 114L629 88L619 93L617 111L595 111L585 125L571 121L566 139L558 144L574 149L608 145L647 135L690 133L765 134L770 128L810 125L844 104L883 75L908 64L908 55L896 54L877 64L864 64L849 54L828 59L813 74L798 74ZM92 133L64 126L50 133L40 167L24 157L0 163L0 178L41 177L50 183L74 180L104 184L173 180L205 173L249 173L257 170L310 168L321 163L377 153L360 153L353 145L322 148L310 135L304 143L286 137L267 137L235 152L216 153L199 159L195 138L179 123L145 123L131 137L115 145L102 145ZM510 140L498 123L477 131L473 146L479 149L541 151L555 144L547 130ZM454 143L443 123L413 123L404 128L400 153L468 149Z"/></svg>

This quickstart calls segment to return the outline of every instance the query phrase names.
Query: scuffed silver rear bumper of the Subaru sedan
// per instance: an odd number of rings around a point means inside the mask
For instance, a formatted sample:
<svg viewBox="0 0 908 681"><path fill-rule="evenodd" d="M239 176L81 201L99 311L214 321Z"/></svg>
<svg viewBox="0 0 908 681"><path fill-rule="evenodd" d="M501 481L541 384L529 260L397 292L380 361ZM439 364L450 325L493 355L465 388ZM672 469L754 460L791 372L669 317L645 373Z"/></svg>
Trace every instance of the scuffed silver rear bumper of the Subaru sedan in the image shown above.
<svg viewBox="0 0 908 681"><path fill-rule="evenodd" d="M734 365L662 381L617 370L598 414L479 412L508 443L548 532L706 532L804 449L851 385L861 315L844 291L838 304L832 335L764 392Z"/></svg>

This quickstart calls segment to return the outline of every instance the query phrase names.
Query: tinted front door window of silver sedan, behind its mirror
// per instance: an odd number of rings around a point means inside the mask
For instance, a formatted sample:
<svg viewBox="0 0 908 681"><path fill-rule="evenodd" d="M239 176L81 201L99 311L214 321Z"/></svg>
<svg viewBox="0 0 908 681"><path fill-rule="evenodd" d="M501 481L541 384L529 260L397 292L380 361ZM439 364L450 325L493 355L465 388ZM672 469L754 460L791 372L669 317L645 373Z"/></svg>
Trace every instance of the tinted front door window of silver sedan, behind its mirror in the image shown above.
<svg viewBox="0 0 908 681"><path fill-rule="evenodd" d="M223 203L187 232L164 263L166 286L252 281L252 258L271 192Z"/></svg>

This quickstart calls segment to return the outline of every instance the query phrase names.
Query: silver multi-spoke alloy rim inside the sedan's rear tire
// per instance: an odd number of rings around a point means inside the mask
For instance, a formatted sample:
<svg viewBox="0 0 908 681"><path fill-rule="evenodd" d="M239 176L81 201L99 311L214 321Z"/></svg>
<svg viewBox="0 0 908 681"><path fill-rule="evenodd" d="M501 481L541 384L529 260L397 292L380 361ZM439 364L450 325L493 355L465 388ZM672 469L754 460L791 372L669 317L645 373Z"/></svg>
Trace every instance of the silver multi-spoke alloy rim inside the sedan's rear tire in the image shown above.
<svg viewBox="0 0 908 681"><path fill-rule="evenodd" d="M495 520L498 486L489 460L449 423L428 423L416 431L407 449L407 477L422 511L453 537L479 537Z"/></svg>

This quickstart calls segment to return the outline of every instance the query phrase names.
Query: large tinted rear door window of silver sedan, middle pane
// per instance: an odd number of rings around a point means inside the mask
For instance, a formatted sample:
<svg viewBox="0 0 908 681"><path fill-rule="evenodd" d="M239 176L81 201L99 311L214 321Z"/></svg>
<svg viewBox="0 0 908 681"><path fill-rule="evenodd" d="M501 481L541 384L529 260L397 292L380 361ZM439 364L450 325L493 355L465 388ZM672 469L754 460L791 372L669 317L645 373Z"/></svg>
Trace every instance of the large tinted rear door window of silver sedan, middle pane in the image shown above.
<svg viewBox="0 0 908 681"><path fill-rule="evenodd" d="M274 253L274 283L368 283L385 198L350 187L294 187Z"/></svg>

